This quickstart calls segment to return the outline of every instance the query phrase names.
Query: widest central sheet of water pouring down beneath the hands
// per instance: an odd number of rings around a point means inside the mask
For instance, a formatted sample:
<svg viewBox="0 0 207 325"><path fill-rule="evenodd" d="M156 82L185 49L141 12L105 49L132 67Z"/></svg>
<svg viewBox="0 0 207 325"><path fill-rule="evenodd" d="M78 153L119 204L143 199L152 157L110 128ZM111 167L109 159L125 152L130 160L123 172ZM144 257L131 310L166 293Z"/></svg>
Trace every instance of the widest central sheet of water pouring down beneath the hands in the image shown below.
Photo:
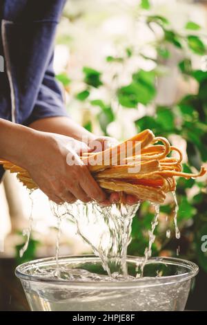
<svg viewBox="0 0 207 325"><path fill-rule="evenodd" d="M77 233L100 257L103 268L110 277L127 277L126 255L136 205L112 204L101 207L95 202L72 205L66 203L66 214L75 221Z"/></svg>

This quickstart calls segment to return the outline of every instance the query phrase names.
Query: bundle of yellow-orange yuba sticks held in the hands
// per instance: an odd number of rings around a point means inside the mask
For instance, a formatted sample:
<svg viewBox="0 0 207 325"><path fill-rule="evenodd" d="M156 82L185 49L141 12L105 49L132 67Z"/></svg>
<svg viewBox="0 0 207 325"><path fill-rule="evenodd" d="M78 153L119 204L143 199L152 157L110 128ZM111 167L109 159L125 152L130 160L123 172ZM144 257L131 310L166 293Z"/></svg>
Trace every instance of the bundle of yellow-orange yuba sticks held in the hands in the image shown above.
<svg viewBox="0 0 207 325"><path fill-rule="evenodd" d="M156 145L157 142L161 145ZM172 151L177 151L178 158L168 157ZM204 167L198 174L183 173L181 151L148 129L105 151L83 154L81 159L106 192L132 194L141 201L159 204L164 203L166 193L175 191L175 176L197 178L206 174ZM17 178L28 189L38 188L25 169L6 160L0 160L0 164L11 173L17 173Z"/></svg>

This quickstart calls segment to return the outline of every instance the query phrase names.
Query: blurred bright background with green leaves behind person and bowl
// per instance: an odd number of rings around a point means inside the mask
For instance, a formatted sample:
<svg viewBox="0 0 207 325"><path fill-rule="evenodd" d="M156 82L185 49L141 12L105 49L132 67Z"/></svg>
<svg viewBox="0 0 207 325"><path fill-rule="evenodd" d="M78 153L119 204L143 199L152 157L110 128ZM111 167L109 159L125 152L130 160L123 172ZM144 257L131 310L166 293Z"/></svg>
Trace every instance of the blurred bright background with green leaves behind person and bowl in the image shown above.
<svg viewBox="0 0 207 325"><path fill-rule="evenodd" d="M68 112L86 129L125 140L149 128L179 146L184 171L206 164L207 1L68 0L57 31L55 73ZM206 178L178 179L177 199L181 238L175 239L169 195L153 255L179 255L199 265L187 308L207 310ZM20 259L32 204L32 234ZM144 254L153 215L143 203L132 224L129 254ZM0 265L5 259L21 263L52 256L56 238L57 220L46 196L36 191L31 200L15 175L6 173L0 185ZM83 252L90 252L88 245L75 225L63 221L60 254Z"/></svg>

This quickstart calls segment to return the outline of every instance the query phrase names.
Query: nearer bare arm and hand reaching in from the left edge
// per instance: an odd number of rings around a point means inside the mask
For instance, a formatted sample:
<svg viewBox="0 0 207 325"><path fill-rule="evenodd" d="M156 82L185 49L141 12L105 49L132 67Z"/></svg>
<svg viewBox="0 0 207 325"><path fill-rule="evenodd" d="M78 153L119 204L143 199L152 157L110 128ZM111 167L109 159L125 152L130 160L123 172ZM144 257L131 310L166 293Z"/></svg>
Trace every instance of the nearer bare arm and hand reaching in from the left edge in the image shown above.
<svg viewBox="0 0 207 325"><path fill-rule="evenodd" d="M0 119L0 158L25 168L56 203L104 201L106 195L76 154L84 144L54 133L36 131ZM68 165L68 158L75 164Z"/></svg>

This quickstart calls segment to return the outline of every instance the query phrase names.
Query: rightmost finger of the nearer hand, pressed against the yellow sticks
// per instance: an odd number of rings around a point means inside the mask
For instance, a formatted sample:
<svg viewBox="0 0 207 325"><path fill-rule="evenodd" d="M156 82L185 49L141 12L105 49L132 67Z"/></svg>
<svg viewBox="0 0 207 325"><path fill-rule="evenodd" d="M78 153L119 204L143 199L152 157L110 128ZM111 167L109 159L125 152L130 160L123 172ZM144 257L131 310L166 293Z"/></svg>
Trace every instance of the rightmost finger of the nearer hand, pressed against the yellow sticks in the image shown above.
<svg viewBox="0 0 207 325"><path fill-rule="evenodd" d="M90 174L88 167L81 166L83 171L82 177L80 178L80 186L89 198L95 201L103 202L106 198L106 194L103 192L101 187L97 184L95 179Z"/></svg>

